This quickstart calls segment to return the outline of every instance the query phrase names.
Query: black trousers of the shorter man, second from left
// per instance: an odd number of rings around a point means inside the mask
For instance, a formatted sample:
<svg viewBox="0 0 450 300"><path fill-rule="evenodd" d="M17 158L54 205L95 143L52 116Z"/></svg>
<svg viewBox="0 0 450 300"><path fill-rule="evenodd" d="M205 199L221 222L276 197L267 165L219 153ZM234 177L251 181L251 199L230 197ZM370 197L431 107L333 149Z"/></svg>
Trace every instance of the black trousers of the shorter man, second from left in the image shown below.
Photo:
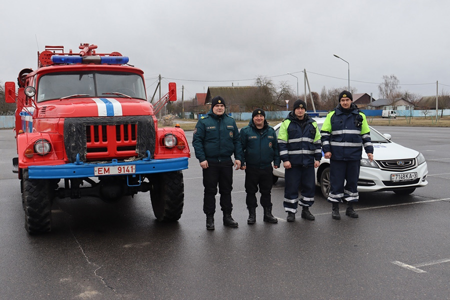
<svg viewBox="0 0 450 300"><path fill-rule="evenodd" d="M247 208L258 207L256 200L256 192L261 193L261 198L259 199L261 206L271 206L270 201L270 190L272 189L272 166L260 169L251 166L246 166L245 168L245 192L247 196L245 197L245 203Z"/></svg>

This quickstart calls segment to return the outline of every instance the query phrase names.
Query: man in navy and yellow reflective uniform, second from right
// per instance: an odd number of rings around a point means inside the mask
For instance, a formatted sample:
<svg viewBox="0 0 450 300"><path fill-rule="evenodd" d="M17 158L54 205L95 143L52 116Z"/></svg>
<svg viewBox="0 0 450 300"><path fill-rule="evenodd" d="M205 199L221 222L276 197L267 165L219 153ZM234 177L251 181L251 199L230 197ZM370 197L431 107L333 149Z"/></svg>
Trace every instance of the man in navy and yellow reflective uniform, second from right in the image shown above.
<svg viewBox="0 0 450 300"><path fill-rule="evenodd" d="M300 200L301 217L313 220L309 211L314 203L315 172L322 152L320 150L320 132L317 123L306 113L306 103L298 99L293 109L281 123L278 132L279 155L284 166L284 210L286 220L295 220L298 200ZM301 195L298 197L298 187Z"/></svg>

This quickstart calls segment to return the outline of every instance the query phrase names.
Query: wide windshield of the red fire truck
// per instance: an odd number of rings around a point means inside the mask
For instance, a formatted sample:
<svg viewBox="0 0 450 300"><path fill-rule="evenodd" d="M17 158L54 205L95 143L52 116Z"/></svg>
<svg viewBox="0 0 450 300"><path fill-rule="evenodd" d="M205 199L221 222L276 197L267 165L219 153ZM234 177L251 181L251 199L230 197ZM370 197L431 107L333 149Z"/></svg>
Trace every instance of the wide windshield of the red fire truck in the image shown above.
<svg viewBox="0 0 450 300"><path fill-rule="evenodd" d="M39 78L37 102L70 97L132 97L146 99L142 77L127 72L78 71Z"/></svg>

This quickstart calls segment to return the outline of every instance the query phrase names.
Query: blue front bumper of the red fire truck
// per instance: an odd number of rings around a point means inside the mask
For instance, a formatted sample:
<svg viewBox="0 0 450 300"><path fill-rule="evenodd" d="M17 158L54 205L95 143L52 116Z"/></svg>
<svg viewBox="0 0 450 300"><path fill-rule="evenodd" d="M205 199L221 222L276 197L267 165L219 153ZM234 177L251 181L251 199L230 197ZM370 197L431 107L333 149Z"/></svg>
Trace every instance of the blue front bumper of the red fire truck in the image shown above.
<svg viewBox="0 0 450 300"><path fill-rule="evenodd" d="M60 178L83 178L95 177L94 167L96 166L118 166L130 165L136 166L135 173L127 174L149 174L178 171L187 168L187 157L169 158L169 159L148 159L117 162L113 159L110 163L87 163L76 162L58 165L33 165L28 166L28 177L30 179L60 179ZM115 175L109 175L115 176Z"/></svg>

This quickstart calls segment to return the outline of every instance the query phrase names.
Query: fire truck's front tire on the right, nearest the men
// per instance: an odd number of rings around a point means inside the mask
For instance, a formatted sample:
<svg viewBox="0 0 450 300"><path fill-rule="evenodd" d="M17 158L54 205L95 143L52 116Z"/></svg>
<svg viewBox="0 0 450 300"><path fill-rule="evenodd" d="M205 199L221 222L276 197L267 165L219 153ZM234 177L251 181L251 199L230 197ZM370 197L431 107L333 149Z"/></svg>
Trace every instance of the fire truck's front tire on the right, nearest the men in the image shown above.
<svg viewBox="0 0 450 300"><path fill-rule="evenodd" d="M184 205L184 182L181 171L152 174L150 198L154 216L158 221L176 221Z"/></svg>

